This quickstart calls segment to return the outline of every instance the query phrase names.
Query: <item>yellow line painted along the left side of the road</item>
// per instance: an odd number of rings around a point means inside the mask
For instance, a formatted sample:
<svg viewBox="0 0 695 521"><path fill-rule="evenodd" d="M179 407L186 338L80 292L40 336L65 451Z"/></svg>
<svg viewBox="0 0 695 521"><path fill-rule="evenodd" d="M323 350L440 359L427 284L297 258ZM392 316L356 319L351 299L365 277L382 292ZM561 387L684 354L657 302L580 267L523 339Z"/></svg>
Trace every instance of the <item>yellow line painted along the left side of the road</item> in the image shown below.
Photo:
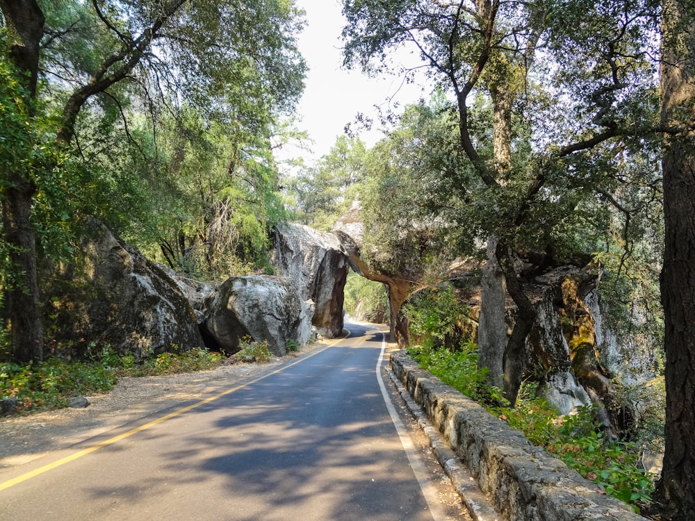
<svg viewBox="0 0 695 521"><path fill-rule="evenodd" d="M284 366L280 367L279 369L276 369L273 372L269 372L268 374L264 374L262 377L258 377L256 379L251 380L251 381L247 381L246 383L242 383L241 385L238 385L238 386L233 387L231 389L227 389L224 392L220 392L220 394L218 394L218 395L211 396L211 397L206 398L204 400L201 400L200 402L197 402L193 405L189 405L187 407L180 408L177 411L174 411L174 412L169 413L167 415L164 415L162 417L158 417L155 420L152 420L151 422L140 425L140 427L136 427L135 429L131 429L130 431L119 434L118 436L113 436L113 438L109 438L106 441L102 441L101 443L97 443L97 445L92 445L92 447L88 447L88 448L83 449L79 452L75 452L74 454L70 454L70 456L65 456L65 458L61 458L58 461L54 461L53 463L49 463L48 465L44 465L38 469L32 470L31 472L26 472L26 474L22 474L21 476L18 476L14 479L9 479L8 481L3 481L2 483L0 483L0 490L5 490L6 488L10 488L11 486L17 485L18 483L22 483L22 481L26 481L27 479L31 479L33 477L39 476L40 474L44 474L44 472L48 472L49 470L53 470L54 468L60 467L61 465L65 465L65 463L70 463L70 461L76 460L77 458L81 458L82 456L86 456L87 454L90 454L91 452L95 452L101 448L107 447L108 445L113 445L114 443L116 443L120 440L124 440L125 438L128 438L129 436L133 436L133 434L136 434L140 431L145 431L145 429L149 429L150 427L154 427L155 425L160 424L161 422L165 422L166 420L170 420L173 417L177 417L183 413L187 413L188 411L191 411L199 406L209 404L210 402L214 402L216 399L219 399L223 396L231 395L232 392L236 392L239 389L243 389L247 386L250 386L252 383L256 383L257 381L261 381L265 378L271 377L273 374L277 374L281 371L284 371L288 367L292 367L293 365L297 365L298 363L306 360L306 358L311 358L311 356L319 354L320 352L325 351L329 347L333 347L334 345L336 345L341 340L344 340L345 338L347 338L347 337L338 338L338 340L335 340L334 342L323 347L322 349L318 349L317 351L315 351L307 356L304 356L304 357L300 358L299 360L294 361L293 363L290 363L288 365L284 365Z"/></svg>

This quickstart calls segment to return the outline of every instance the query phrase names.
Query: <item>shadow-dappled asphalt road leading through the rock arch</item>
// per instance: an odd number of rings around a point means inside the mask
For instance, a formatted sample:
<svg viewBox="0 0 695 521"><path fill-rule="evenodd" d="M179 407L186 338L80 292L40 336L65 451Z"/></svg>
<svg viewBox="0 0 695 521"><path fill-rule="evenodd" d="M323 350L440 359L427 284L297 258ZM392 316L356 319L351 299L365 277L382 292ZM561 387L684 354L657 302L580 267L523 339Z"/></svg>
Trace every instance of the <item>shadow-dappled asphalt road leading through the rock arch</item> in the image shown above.
<svg viewBox="0 0 695 521"><path fill-rule="evenodd" d="M441 520L377 377L382 333L348 326L296 363L3 474L0 517Z"/></svg>

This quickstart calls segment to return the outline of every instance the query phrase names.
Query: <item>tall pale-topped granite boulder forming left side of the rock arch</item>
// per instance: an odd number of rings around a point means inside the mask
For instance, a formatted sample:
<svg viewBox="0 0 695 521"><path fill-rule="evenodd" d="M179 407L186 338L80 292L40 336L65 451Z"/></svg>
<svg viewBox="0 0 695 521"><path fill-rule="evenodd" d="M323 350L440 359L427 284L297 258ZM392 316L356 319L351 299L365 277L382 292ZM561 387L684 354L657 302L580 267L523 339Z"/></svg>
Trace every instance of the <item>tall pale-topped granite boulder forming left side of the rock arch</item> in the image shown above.
<svg viewBox="0 0 695 521"><path fill-rule="evenodd" d="M272 265L297 284L303 300L313 301L313 325L325 338L343 331L343 298L350 266L332 233L302 224L275 228Z"/></svg>

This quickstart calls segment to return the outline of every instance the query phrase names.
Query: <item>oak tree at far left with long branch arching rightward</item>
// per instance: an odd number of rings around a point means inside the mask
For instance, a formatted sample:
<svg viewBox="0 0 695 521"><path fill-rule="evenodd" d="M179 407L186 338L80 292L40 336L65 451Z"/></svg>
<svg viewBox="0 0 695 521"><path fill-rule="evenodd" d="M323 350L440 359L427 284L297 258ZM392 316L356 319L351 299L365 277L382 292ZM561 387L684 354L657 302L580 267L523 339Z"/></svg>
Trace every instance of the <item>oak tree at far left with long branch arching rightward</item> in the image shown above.
<svg viewBox="0 0 695 521"><path fill-rule="evenodd" d="M42 358L44 342L31 216L38 172L54 172L54 154L79 154L85 110L98 114L99 104L111 100L124 113L129 97L160 110L189 103L239 126L250 107L263 108L264 118L291 108L305 67L295 47L301 22L292 2L3 0L0 10L3 63L23 83L21 95L3 99L25 118L17 143L32 151L0 167L3 239L15 274L3 289L13 356L31 361ZM39 101L57 114L40 113ZM38 126L48 127L43 142ZM125 119L124 126L127 133Z"/></svg>

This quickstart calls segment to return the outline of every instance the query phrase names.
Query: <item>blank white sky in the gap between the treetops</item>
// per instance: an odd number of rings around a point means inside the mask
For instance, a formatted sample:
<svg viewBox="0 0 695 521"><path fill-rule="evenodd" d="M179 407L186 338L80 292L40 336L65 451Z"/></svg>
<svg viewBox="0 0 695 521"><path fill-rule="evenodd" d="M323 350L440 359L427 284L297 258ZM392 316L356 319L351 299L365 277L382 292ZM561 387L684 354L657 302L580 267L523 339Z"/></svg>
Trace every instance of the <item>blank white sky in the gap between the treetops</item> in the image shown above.
<svg viewBox="0 0 695 521"><path fill-rule="evenodd" d="M297 126L309 131L314 141L311 145L313 154L297 152L307 162L328 154L336 137L343 134L345 124L352 122L357 113L375 119L375 129L360 134L363 141L372 145L382 136L377 130L379 122L375 105L385 110L398 102L400 112L404 105L423 96L429 97L426 89L423 92L416 85L402 85L402 79L397 76L369 78L359 69L347 71L342 68L340 34L344 19L340 0L297 0L296 3L306 11L307 21L298 45L309 65L309 72L304 95L297 106L297 117L300 118Z"/></svg>

